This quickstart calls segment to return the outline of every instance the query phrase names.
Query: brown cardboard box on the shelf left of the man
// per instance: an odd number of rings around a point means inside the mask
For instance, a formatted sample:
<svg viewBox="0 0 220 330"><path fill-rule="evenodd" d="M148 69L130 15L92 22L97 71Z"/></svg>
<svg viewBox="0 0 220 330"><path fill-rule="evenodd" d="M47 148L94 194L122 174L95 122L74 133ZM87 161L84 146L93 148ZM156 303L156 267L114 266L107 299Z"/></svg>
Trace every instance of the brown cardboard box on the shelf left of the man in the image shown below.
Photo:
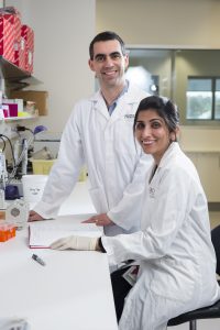
<svg viewBox="0 0 220 330"><path fill-rule="evenodd" d="M35 102L38 116L48 114L48 92L46 90L11 90L10 98Z"/></svg>

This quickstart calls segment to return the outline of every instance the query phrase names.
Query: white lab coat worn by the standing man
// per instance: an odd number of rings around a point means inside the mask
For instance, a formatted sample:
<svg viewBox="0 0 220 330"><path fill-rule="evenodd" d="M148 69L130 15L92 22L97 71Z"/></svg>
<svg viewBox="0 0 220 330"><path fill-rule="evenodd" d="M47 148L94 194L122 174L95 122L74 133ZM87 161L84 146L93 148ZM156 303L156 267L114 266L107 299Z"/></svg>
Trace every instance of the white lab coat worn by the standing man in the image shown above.
<svg viewBox="0 0 220 330"><path fill-rule="evenodd" d="M55 217L86 163L97 213L108 212L116 223L106 227L106 234L140 228L140 196L152 157L143 154L134 142L132 129L136 108L146 96L130 84L111 117L100 91L75 106L43 198L34 207L36 212L44 218Z"/></svg>

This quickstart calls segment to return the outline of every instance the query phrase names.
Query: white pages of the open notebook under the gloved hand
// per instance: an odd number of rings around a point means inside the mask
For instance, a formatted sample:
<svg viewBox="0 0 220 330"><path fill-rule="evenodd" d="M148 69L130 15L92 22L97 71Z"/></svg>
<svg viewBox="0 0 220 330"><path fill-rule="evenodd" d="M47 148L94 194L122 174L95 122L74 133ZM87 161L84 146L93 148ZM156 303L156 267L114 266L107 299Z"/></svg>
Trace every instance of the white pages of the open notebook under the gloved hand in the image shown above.
<svg viewBox="0 0 220 330"><path fill-rule="evenodd" d="M56 223L52 222L32 222L29 227L30 248L48 248L54 241L70 237L96 237L102 234L102 229L94 223Z"/></svg>

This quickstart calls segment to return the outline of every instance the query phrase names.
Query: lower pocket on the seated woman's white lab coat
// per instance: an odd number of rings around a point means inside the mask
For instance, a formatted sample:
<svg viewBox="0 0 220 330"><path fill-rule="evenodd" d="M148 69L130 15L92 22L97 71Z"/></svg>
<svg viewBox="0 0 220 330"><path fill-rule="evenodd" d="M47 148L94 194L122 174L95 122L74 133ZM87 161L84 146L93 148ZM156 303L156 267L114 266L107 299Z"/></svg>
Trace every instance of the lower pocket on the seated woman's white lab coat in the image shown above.
<svg viewBox="0 0 220 330"><path fill-rule="evenodd" d="M158 261L151 290L167 299L186 302L195 293L197 272L190 261Z"/></svg>

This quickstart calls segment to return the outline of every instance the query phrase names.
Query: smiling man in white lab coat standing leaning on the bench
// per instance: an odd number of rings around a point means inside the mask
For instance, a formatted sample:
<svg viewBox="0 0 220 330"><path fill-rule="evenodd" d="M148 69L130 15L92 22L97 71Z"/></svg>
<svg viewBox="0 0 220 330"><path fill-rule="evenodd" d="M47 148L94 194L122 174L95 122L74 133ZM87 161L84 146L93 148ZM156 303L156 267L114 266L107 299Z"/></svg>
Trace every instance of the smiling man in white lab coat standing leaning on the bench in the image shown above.
<svg viewBox="0 0 220 330"><path fill-rule="evenodd" d="M147 94L125 80L129 56L114 32L95 36L89 55L89 67L100 90L76 103L62 136L57 162L42 200L30 212L30 221L57 215L86 163L89 193L97 210L86 222L103 226L107 235L129 233L140 227L140 195L151 164L132 132L134 113Z"/></svg>

